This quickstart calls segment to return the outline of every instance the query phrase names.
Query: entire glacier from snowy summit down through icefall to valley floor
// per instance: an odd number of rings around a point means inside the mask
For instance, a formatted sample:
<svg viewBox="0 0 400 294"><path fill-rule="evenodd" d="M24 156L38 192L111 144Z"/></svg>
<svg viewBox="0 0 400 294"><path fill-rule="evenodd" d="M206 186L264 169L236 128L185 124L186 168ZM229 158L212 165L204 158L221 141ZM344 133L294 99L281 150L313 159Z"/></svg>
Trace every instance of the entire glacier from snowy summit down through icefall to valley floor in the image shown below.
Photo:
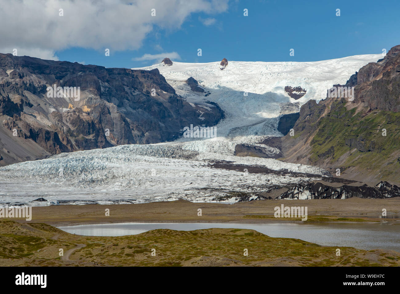
<svg viewBox="0 0 400 294"><path fill-rule="evenodd" d="M371 54L318 62L229 61L224 70L218 62L174 62L172 66L143 68L158 68L177 94L192 104L209 107L210 102L217 103L226 117L216 125L216 138L123 145L4 166L0 168L0 202L111 204L180 198L237 202L255 199L274 186L320 179L326 176L320 168L234 156L235 146L260 146L258 142L266 136L282 136L277 130L280 114L298 111L294 103L324 98L333 84L345 83L359 68L380 57ZM192 92L185 83L190 76L198 80L207 96ZM307 92L294 100L284 92L285 86L301 86ZM260 167L266 172L256 172ZM31 203L40 197L48 201Z"/></svg>

